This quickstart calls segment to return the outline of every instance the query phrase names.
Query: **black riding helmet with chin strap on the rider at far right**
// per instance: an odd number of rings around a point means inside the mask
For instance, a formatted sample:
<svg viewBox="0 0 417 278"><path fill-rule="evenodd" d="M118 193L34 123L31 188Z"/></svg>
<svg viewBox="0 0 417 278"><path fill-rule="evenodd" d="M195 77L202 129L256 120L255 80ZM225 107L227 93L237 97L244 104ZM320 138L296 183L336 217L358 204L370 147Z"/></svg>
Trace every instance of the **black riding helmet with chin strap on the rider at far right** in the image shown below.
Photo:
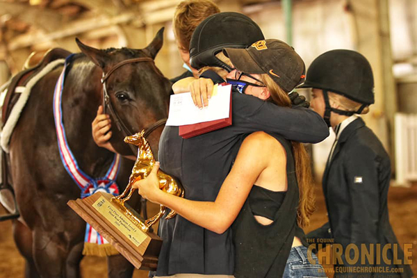
<svg viewBox="0 0 417 278"><path fill-rule="evenodd" d="M363 108L373 104L373 72L368 60L357 51L336 49L318 56L307 70L306 81L298 88L317 88L325 98L325 121L330 126L330 112L340 115L360 114ZM343 95L363 104L358 111L342 111L330 107L327 92Z"/></svg>

